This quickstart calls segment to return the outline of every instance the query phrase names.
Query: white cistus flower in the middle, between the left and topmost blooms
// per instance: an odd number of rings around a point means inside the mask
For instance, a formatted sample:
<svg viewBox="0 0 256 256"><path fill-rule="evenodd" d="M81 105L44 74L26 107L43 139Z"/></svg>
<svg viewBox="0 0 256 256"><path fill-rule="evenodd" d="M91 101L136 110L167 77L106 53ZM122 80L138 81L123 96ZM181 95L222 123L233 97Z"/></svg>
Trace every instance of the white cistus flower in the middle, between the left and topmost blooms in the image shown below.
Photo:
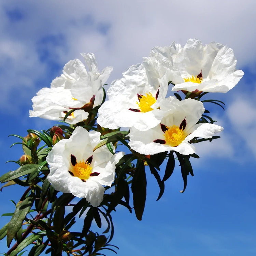
<svg viewBox="0 0 256 256"><path fill-rule="evenodd" d="M168 86L161 81L149 83L142 64L133 65L123 73L123 78L112 82L109 100L99 108L98 124L117 129L135 127L147 130L159 124L162 112L159 102L165 98Z"/></svg>

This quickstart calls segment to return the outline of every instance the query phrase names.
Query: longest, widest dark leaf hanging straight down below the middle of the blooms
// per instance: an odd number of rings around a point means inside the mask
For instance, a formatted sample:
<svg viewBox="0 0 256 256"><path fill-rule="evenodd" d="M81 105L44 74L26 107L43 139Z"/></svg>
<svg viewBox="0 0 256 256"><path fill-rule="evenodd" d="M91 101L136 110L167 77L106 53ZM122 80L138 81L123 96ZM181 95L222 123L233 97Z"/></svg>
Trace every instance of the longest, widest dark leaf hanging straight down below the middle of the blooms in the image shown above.
<svg viewBox="0 0 256 256"><path fill-rule="evenodd" d="M139 221L142 219L146 202L146 173L143 162L138 161L133 175L131 191L133 193L133 206L136 217Z"/></svg>

